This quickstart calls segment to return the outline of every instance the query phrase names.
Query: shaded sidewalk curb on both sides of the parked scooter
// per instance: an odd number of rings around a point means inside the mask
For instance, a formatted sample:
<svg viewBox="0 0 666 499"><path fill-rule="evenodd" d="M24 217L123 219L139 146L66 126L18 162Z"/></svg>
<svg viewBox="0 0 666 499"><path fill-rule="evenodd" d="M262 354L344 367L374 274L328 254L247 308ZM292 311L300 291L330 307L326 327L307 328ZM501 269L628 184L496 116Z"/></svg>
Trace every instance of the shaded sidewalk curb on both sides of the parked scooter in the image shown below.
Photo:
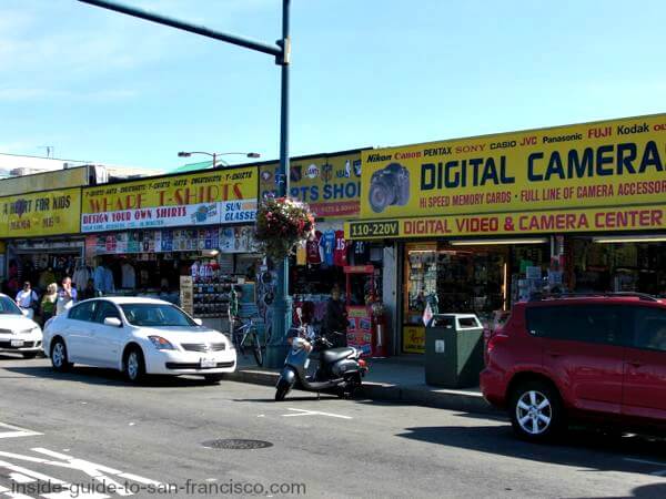
<svg viewBox="0 0 666 499"><path fill-rule="evenodd" d="M279 373L261 369L242 369L226 375L226 379L252 385L275 386ZM497 414L481 394L462 390L424 390L412 387L363 383L360 396L371 400L386 400L465 413Z"/></svg>

